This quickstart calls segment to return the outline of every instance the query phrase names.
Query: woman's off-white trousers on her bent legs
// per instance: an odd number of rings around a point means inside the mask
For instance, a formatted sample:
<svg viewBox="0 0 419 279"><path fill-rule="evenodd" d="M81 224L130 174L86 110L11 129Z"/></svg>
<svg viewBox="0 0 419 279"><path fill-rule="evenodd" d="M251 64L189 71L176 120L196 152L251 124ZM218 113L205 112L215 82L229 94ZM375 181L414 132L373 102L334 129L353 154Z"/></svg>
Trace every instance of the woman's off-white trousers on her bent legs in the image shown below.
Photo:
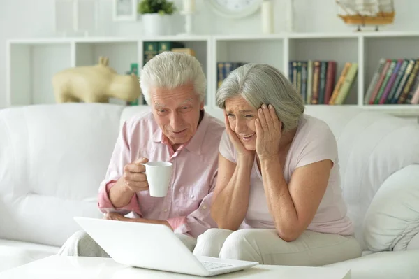
<svg viewBox="0 0 419 279"><path fill-rule="evenodd" d="M279 238L274 229L208 229L197 238L197 256L242 259L259 264L322 266L360 257L353 236L304 231L295 241Z"/></svg>

